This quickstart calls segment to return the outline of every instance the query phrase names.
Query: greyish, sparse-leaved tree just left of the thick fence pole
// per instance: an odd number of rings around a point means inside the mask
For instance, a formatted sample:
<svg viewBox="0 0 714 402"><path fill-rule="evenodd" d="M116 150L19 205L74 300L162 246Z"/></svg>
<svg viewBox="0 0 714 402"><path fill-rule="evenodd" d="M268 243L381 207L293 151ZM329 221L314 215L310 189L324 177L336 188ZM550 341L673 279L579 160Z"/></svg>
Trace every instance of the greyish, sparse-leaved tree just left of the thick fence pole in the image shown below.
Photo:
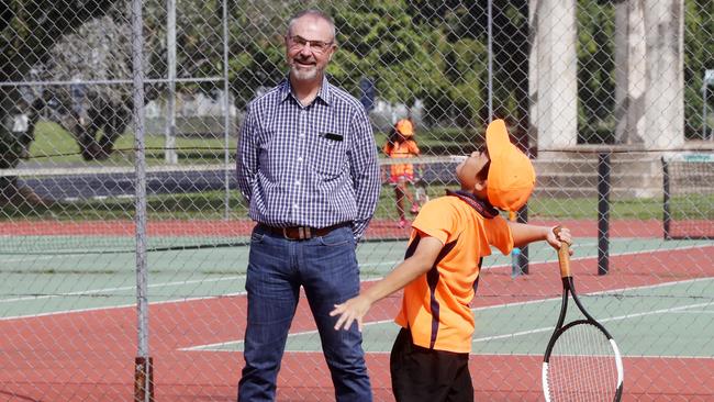
<svg viewBox="0 0 714 402"><path fill-rule="evenodd" d="M89 20L66 34L33 66L47 86L32 100L35 112L51 116L70 132L85 160L105 159L132 116L132 85L87 85L86 81L131 79L131 27L121 10ZM101 133L101 134L100 134Z"/></svg>

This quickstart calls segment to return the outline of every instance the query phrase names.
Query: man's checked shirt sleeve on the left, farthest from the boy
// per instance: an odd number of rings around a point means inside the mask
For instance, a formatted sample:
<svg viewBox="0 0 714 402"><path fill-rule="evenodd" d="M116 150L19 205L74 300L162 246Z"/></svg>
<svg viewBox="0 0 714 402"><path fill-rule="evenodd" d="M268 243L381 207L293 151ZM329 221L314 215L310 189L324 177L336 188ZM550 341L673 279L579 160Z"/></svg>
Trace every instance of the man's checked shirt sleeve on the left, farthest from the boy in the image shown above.
<svg viewBox="0 0 714 402"><path fill-rule="evenodd" d="M250 202L253 196L253 185L258 171L258 156L256 146L256 119L250 107L247 108L245 119L238 132L238 150L236 155L236 175L238 189Z"/></svg>

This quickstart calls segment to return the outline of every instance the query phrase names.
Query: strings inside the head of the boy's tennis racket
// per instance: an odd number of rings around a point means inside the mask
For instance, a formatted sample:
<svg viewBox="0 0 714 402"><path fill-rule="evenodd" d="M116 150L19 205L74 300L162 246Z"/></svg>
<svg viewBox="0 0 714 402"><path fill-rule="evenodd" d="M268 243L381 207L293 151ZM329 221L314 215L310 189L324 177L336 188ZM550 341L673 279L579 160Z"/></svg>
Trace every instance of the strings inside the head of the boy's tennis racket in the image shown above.
<svg viewBox="0 0 714 402"><path fill-rule="evenodd" d="M548 364L550 401L611 401L617 382L615 351L596 326L578 324L558 337Z"/></svg>

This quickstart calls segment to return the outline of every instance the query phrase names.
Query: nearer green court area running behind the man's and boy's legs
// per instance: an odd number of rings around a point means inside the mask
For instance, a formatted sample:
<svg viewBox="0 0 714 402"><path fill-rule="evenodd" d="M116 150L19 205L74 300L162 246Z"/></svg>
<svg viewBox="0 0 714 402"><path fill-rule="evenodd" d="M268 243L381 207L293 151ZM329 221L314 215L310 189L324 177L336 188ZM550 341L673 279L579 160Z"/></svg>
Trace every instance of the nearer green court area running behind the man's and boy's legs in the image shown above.
<svg viewBox="0 0 714 402"><path fill-rule="evenodd" d="M581 301L610 331L624 356L711 358L714 357L714 343L706 330L709 319L702 320L701 316L711 317L714 303L677 295L705 292L713 287L714 278L700 279L583 295ZM559 311L559 298L475 309L477 328L472 354L542 356ZM566 321L578 317L581 315L573 305ZM399 326L391 321L366 324L365 350L389 353L398 331ZM237 340L190 349L239 351L243 343ZM287 350L321 350L317 333L291 334Z"/></svg>

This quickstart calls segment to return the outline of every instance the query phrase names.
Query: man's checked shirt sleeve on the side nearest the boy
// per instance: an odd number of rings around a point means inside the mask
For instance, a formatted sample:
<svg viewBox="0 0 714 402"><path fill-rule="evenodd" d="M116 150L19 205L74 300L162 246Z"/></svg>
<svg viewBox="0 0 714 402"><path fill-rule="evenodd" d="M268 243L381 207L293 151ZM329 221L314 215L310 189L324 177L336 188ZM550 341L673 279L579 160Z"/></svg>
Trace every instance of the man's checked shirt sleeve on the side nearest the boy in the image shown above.
<svg viewBox="0 0 714 402"><path fill-rule="evenodd" d="M364 109L355 114L353 129L355 143L350 153L350 174L357 203L357 216L353 223L353 232L355 238L359 239L375 214L379 200L380 178L375 136Z"/></svg>

